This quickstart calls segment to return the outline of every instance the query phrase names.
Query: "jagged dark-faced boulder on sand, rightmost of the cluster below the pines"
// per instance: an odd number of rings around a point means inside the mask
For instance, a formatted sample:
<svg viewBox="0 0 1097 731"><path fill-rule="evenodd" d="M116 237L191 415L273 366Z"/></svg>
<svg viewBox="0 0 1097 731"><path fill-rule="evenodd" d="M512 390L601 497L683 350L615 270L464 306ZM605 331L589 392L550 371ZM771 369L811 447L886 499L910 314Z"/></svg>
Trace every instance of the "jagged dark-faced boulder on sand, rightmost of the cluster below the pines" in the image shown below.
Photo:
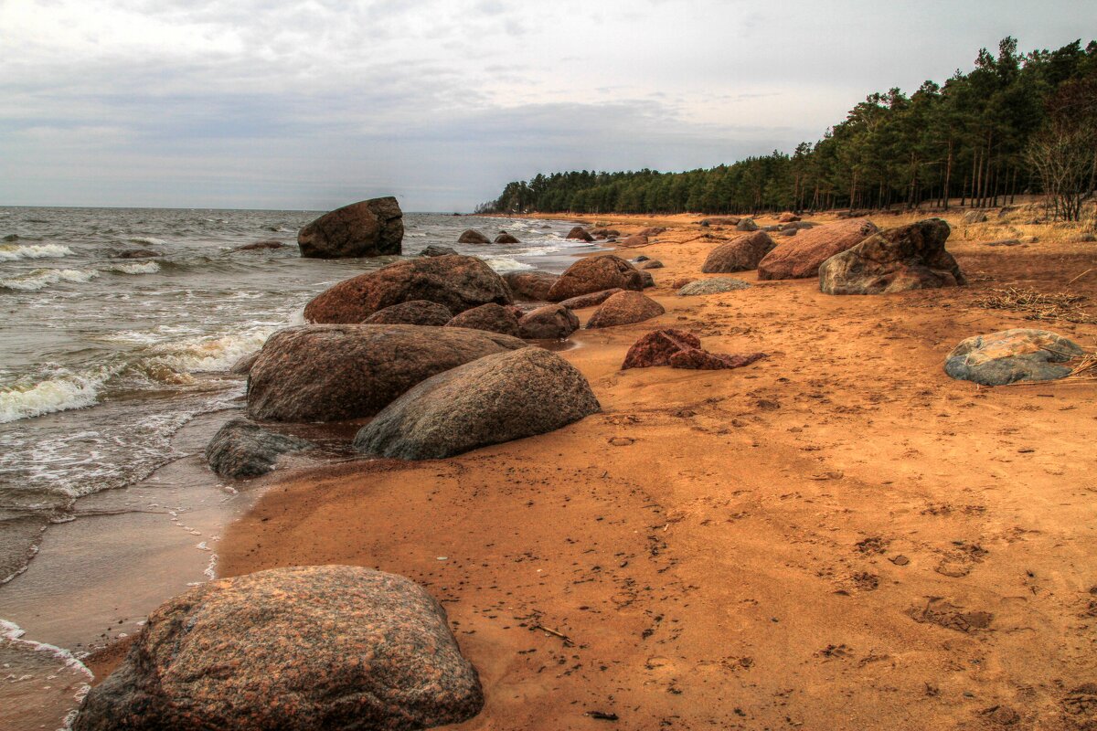
<svg viewBox="0 0 1097 731"><path fill-rule="evenodd" d="M890 228L835 254L819 266L828 295L883 295L966 284L945 250L951 229L940 218Z"/></svg>

